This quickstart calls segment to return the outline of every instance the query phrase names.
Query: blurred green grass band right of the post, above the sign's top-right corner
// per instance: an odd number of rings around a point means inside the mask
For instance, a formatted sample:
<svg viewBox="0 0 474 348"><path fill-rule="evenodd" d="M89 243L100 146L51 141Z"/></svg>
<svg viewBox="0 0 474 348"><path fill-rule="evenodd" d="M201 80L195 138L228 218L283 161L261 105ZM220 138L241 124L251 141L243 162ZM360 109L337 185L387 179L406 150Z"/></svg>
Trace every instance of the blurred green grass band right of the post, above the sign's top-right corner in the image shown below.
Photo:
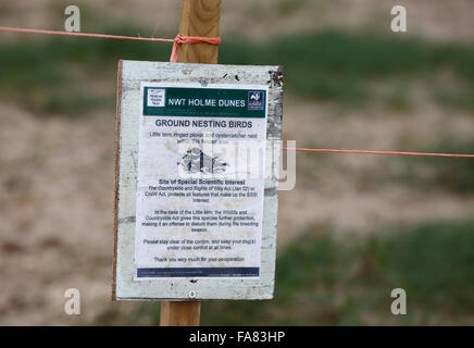
<svg viewBox="0 0 474 348"><path fill-rule="evenodd" d="M420 78L429 84L445 71L464 84L451 92L474 91L471 47L341 32L286 36L263 46L235 42L224 42L221 61L283 64L287 86L315 100L363 103L377 98L371 83Z"/></svg>

